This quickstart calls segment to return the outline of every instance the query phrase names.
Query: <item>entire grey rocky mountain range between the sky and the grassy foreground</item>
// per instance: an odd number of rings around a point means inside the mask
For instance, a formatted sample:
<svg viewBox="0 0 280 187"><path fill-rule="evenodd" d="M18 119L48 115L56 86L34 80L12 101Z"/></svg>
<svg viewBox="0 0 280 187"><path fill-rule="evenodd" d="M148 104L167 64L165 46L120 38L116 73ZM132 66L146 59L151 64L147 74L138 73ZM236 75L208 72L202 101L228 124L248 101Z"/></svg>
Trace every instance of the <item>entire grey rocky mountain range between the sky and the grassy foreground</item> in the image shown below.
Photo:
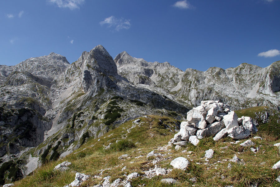
<svg viewBox="0 0 280 187"><path fill-rule="evenodd" d="M65 157L88 137L101 137L128 120L145 115L185 120L202 100L219 100L232 110L279 110L279 91L280 61L266 68L243 63L182 71L125 51L113 59L99 45L72 64L50 53L0 65L1 163L23 160L15 167L20 178L37 167L30 162Z"/></svg>

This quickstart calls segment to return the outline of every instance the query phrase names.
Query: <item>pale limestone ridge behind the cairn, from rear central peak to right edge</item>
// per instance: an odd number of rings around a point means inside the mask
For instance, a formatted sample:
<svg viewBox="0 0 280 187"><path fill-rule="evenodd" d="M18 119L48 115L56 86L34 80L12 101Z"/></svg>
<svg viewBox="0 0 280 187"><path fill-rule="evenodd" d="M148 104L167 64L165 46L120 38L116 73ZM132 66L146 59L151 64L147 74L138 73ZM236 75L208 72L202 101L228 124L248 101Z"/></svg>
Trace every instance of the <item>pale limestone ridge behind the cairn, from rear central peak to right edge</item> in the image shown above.
<svg viewBox="0 0 280 187"><path fill-rule="evenodd" d="M184 72L167 62L146 62L122 52L114 59L118 72L133 84L160 87L175 97L198 106L202 100L220 100L232 109L253 106L279 107L280 61L266 68L243 63L223 70Z"/></svg>

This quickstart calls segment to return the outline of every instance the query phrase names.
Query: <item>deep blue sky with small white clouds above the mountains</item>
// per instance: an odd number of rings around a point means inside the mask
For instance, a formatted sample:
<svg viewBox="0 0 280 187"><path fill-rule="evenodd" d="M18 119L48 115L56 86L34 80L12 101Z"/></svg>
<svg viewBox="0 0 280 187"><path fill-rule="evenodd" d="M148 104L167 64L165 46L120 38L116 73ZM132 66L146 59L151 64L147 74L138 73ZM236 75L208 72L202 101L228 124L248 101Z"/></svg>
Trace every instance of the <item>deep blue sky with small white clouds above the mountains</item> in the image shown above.
<svg viewBox="0 0 280 187"><path fill-rule="evenodd" d="M1 0L0 64L101 44L185 70L280 60L280 0Z"/></svg>

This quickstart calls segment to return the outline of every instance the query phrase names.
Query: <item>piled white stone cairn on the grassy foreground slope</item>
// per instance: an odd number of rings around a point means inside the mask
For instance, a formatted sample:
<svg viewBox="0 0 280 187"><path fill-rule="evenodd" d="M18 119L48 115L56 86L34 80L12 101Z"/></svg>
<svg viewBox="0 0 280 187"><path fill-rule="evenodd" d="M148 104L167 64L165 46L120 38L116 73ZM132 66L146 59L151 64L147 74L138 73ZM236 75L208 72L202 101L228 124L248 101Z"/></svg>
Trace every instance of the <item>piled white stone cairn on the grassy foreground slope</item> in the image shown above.
<svg viewBox="0 0 280 187"><path fill-rule="evenodd" d="M215 141L226 136L244 139L258 131L251 117L238 118L228 105L219 101L201 101L200 104L187 113L187 121L181 123L180 132L170 144L186 146L191 142L197 146L204 137L212 136Z"/></svg>

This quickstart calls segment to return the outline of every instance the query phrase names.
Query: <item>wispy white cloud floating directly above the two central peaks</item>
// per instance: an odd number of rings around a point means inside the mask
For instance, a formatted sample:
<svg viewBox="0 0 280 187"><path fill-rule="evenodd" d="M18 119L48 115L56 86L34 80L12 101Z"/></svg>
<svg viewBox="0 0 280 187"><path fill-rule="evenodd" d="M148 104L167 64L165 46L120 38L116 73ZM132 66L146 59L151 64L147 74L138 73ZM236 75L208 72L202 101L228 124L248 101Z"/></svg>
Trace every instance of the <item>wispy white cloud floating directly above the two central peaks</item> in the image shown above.
<svg viewBox="0 0 280 187"><path fill-rule="evenodd" d="M100 22L100 25L107 25L108 27L114 27L114 30L119 31L121 29L129 29L131 24L130 20L124 18L115 18L114 16L110 16L104 19L104 21Z"/></svg>

